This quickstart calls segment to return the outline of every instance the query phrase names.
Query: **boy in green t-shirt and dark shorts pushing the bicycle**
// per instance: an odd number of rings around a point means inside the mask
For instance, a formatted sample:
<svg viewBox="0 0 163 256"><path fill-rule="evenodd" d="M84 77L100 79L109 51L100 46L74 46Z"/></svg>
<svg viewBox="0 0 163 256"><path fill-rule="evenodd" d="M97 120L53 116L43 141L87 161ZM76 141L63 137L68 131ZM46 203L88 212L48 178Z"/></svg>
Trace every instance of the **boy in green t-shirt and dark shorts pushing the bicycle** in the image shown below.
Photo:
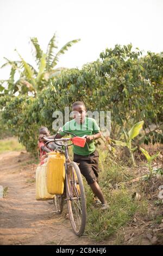
<svg viewBox="0 0 163 256"><path fill-rule="evenodd" d="M99 154L95 148L94 140L101 137L101 131L95 119L86 118L86 108L82 101L76 101L72 105L73 120L67 122L56 138L65 136L65 132L72 132L82 137L86 135L84 148L73 145L74 162L79 163L80 172L85 176L87 184L90 185L93 193L102 203L102 209L108 209L101 188L98 185L98 158Z"/></svg>

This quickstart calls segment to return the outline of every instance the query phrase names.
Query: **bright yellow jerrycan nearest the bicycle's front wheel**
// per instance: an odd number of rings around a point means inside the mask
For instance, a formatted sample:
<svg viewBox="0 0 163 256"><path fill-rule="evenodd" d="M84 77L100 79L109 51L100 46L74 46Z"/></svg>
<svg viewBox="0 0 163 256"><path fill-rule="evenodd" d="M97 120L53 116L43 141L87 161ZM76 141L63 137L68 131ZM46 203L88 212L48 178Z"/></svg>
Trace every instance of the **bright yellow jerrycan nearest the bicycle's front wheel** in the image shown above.
<svg viewBox="0 0 163 256"><path fill-rule="evenodd" d="M50 194L64 193L66 157L59 151L48 154L47 160L47 191Z"/></svg>

